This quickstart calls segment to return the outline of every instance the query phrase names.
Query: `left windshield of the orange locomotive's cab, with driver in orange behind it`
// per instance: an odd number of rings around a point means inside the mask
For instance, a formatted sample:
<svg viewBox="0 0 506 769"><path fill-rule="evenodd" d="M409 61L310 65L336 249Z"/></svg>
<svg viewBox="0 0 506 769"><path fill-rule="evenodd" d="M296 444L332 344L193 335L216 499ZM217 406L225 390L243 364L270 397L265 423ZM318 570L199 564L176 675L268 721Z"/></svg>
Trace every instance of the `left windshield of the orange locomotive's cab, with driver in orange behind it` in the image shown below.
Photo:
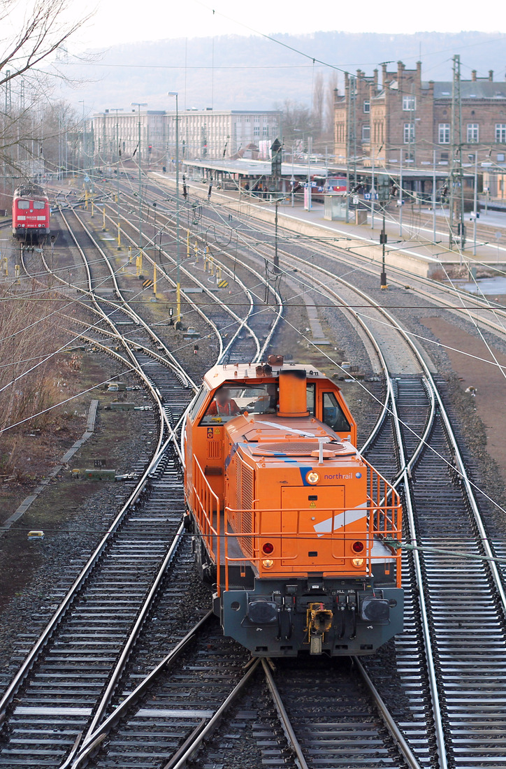
<svg viewBox="0 0 506 769"><path fill-rule="evenodd" d="M222 424L245 411L250 414L275 414L277 403L277 384L222 384L200 424Z"/></svg>

